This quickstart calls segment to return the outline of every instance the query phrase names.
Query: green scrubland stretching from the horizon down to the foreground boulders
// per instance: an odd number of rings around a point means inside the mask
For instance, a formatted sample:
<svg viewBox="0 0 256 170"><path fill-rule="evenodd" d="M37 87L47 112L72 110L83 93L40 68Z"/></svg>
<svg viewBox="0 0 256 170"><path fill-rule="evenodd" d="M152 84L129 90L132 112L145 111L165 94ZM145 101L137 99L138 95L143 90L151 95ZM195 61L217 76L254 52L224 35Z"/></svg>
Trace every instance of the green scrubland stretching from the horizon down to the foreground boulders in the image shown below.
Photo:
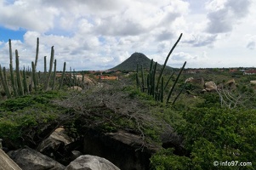
<svg viewBox="0 0 256 170"><path fill-rule="evenodd" d="M61 88L46 90L38 83L25 95L15 95L19 86L14 83L14 88L9 87L11 95L0 101L3 146L36 147L59 126L65 126L75 140L87 129L100 133L122 129L141 136L139 150L157 148L150 160L152 170L255 169L256 88L250 81L256 76L228 69L195 73L185 65L175 71L156 71L156 64L150 62L148 70L140 65L138 71L105 72L118 75L118 80L97 80L89 88L77 82L72 72L60 81ZM12 84L12 76L3 72L1 90L6 92L3 85ZM190 77L213 81L216 88L208 91L200 83L188 82ZM49 84L59 87L60 82ZM69 88L72 85L83 89Z"/></svg>

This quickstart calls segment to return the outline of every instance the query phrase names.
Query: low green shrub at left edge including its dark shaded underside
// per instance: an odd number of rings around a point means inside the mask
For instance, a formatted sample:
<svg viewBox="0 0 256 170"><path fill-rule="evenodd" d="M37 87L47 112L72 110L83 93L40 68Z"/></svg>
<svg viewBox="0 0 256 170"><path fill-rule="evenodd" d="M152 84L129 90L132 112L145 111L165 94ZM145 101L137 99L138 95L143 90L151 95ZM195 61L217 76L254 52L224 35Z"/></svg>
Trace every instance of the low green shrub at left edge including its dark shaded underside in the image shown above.
<svg viewBox="0 0 256 170"><path fill-rule="evenodd" d="M65 118L65 110L52 104L54 99L63 98L65 94L49 91L3 100L0 106L3 143L10 148L24 144L35 147Z"/></svg>

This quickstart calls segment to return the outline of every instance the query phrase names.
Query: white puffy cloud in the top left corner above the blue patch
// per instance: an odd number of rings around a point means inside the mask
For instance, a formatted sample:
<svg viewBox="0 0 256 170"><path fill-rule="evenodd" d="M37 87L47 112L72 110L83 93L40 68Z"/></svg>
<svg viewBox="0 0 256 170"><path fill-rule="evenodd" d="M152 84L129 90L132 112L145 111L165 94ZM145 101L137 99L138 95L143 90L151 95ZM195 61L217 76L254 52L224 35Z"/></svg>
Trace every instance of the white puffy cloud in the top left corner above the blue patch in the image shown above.
<svg viewBox="0 0 256 170"><path fill-rule="evenodd" d="M54 28L54 17L59 12L57 8L42 8L36 1L19 0L12 4L0 3L0 14L0 23L8 28L48 31Z"/></svg>

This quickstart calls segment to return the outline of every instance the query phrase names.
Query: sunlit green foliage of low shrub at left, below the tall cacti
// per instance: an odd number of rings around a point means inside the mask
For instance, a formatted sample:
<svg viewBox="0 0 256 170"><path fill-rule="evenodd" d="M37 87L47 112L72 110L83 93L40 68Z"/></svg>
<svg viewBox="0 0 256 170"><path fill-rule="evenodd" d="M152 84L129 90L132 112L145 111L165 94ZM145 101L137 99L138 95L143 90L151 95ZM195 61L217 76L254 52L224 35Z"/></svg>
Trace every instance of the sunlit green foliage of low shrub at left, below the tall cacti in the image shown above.
<svg viewBox="0 0 256 170"><path fill-rule="evenodd" d="M60 99L60 96L64 97L60 92L48 91L1 102L0 138L10 139L20 145L20 138L31 129L53 122L64 112L62 108L52 104L53 99Z"/></svg>

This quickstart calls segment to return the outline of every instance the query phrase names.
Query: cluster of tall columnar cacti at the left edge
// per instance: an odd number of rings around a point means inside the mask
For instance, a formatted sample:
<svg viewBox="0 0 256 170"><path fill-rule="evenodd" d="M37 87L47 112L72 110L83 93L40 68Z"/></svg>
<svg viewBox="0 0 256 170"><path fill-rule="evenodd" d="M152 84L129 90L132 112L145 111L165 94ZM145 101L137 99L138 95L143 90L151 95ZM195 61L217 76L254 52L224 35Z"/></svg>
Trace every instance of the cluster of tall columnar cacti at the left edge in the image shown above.
<svg viewBox="0 0 256 170"><path fill-rule="evenodd" d="M37 49L36 49L36 59L31 61L31 69L26 70L25 67L23 71L20 71L20 56L18 50L15 50L15 70L13 67L13 53L11 40L9 39L9 71L5 67L0 65L0 84L3 85L2 94L6 95L7 98L12 96L22 96L25 94L30 94L33 91L38 91L39 89L48 90L55 87L56 81L56 65L57 61L54 59L54 46L51 48L51 58L49 62L49 71L46 71L47 62L46 56L44 57L44 72L37 72L37 60L39 53L39 38L37 38ZM54 65L54 72L52 73ZM62 88L63 79L65 75L65 63L63 67L61 83L59 89ZM29 76L31 76L31 82L29 81ZM10 78L10 81L9 81Z"/></svg>

